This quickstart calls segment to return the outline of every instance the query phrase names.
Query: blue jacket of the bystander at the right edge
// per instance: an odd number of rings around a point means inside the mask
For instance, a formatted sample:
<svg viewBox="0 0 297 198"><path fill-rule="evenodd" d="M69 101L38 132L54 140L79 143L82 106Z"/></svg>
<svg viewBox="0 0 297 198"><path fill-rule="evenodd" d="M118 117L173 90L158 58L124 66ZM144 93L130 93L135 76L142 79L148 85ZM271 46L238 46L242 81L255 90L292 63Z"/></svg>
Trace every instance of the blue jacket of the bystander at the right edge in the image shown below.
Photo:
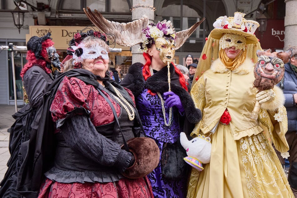
<svg viewBox="0 0 297 198"><path fill-rule="evenodd" d="M285 107L288 116L288 132L297 131L297 107L293 103L293 95L297 93L297 74L291 64L285 64L285 76L282 87L285 94Z"/></svg>

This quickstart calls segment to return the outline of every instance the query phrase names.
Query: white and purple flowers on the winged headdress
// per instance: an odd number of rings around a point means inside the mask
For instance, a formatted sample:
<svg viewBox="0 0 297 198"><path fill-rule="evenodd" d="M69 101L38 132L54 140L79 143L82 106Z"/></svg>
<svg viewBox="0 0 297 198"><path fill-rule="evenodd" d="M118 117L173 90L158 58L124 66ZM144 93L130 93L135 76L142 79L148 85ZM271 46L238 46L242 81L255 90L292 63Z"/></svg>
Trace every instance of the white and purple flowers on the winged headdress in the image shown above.
<svg viewBox="0 0 297 198"><path fill-rule="evenodd" d="M159 37L163 37L171 42L175 40L175 31L172 27L171 21L162 21L157 24L151 23L146 28L142 29L142 41L140 43L139 51L146 52L152 44L155 44L155 40Z"/></svg>

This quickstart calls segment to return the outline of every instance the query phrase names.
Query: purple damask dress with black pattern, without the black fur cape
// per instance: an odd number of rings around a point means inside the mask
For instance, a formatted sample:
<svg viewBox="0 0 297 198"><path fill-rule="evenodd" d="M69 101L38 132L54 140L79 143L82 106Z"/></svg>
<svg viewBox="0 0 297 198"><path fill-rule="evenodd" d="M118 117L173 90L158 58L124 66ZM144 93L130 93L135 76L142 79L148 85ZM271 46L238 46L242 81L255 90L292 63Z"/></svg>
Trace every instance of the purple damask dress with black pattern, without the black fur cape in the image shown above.
<svg viewBox="0 0 297 198"><path fill-rule="evenodd" d="M162 97L164 97L162 95ZM162 177L161 171L161 154L162 147L165 142L174 143L179 141L181 126L178 122L178 110L172 108L172 123L170 126L165 126L164 117L161 107L161 99L158 95L152 96L148 89L144 89L136 99L136 108L142 120L142 124L147 136L153 138L159 149L160 162L148 177L151 181L151 186L155 197L185 197L186 193L186 178L178 181L167 181ZM165 105L165 109L168 108ZM166 111L166 121L168 122L169 110Z"/></svg>

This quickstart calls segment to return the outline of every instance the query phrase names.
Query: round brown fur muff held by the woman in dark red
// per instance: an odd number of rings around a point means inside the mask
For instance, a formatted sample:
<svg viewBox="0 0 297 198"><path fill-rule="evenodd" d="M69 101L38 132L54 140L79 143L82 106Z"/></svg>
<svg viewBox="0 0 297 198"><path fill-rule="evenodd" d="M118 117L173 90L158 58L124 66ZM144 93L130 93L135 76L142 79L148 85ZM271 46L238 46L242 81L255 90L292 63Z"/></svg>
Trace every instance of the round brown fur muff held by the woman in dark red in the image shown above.
<svg viewBox="0 0 297 198"><path fill-rule="evenodd" d="M136 179L148 175L160 161L160 150L156 142L149 137L135 137L127 141L130 151L135 156L135 162L122 174Z"/></svg>

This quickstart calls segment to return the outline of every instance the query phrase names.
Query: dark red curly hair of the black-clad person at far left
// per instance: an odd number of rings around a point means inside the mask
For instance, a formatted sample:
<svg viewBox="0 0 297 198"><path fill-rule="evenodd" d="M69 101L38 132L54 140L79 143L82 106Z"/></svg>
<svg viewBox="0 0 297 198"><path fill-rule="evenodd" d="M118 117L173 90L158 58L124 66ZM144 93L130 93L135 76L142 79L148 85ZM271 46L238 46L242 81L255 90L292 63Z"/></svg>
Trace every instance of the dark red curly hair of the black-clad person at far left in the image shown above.
<svg viewBox="0 0 297 198"><path fill-rule="evenodd" d="M41 50L41 56L44 58L47 58L47 47L53 46L54 42L52 42L51 39L47 39L44 42L42 42L42 50ZM20 74L20 76L23 78L24 74L27 72L28 69L30 69L31 67L33 67L34 65L41 67L45 72L47 72L48 74L51 73L52 71L47 68L47 64L46 64L46 60L45 59L37 59L35 57L34 52L32 52L31 50L27 51L27 57L26 57L27 63L24 65L24 68L22 69L22 72Z"/></svg>

